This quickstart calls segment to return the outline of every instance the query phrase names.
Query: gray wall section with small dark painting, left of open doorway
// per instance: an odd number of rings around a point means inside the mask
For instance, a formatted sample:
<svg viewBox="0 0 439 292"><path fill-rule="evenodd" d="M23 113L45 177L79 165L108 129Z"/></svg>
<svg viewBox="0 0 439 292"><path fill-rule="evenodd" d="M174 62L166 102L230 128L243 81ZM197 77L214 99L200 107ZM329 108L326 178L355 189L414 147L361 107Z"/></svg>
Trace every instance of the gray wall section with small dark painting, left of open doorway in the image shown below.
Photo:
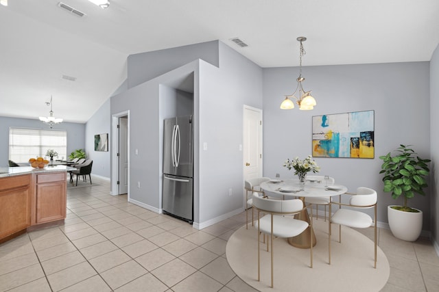
<svg viewBox="0 0 439 292"><path fill-rule="evenodd" d="M85 127L85 150L93 159L92 173L110 179L111 115L110 98L87 121ZM95 151L95 135L108 133L108 152Z"/></svg>

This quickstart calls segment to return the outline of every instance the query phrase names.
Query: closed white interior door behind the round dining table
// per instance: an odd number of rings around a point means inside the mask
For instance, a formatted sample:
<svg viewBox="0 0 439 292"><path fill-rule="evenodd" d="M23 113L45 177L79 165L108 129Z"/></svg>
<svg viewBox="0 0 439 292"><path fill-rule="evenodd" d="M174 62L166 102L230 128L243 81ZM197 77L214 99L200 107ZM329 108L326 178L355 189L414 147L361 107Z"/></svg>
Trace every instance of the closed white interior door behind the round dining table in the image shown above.
<svg viewBox="0 0 439 292"><path fill-rule="evenodd" d="M244 105L244 181L262 176L262 109ZM244 182L243 182L244 185ZM243 187L244 189L244 187Z"/></svg>

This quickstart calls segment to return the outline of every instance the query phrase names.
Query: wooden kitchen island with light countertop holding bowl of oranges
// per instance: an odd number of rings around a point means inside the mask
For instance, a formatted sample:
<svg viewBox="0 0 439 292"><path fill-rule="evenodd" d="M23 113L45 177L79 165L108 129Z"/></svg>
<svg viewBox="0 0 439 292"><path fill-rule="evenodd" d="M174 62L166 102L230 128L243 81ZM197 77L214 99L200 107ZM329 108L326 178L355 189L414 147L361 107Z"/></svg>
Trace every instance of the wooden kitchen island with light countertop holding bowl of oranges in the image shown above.
<svg viewBox="0 0 439 292"><path fill-rule="evenodd" d="M64 222L70 170L75 168L0 168L0 243L26 230Z"/></svg>

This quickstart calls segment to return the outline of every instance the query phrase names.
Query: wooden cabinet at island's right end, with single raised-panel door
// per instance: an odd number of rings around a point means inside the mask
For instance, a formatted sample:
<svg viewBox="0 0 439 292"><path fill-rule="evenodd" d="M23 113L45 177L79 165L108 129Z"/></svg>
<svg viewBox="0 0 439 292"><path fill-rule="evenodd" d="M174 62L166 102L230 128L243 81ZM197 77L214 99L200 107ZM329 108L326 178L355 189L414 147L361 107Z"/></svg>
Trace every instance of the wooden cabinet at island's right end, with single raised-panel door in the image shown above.
<svg viewBox="0 0 439 292"><path fill-rule="evenodd" d="M35 174L32 224L64 220L67 209L66 172Z"/></svg>

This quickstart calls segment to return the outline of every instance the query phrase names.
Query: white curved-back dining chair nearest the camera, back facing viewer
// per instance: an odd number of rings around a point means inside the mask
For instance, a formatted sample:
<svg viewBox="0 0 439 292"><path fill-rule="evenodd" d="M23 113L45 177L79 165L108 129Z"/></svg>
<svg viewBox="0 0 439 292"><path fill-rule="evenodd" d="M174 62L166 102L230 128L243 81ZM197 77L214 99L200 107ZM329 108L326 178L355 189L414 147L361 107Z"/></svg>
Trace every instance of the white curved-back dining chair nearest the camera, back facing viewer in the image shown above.
<svg viewBox="0 0 439 292"><path fill-rule="evenodd" d="M307 230L310 226L311 232L311 248L310 248L310 267L313 267L313 230L312 220L311 223L294 219L293 215L300 213L303 209L302 200L272 200L269 198L261 198L258 194L253 195L253 207L257 209L257 220L254 222L255 228L257 228L257 240L258 240L258 281L261 279L261 240L259 239L261 233L269 235L267 240L267 251L269 250L269 242L271 246L271 277L273 287L273 255L274 255L274 237L295 237L300 233ZM263 213L263 217L261 217ZM293 248L293 247L292 247Z"/></svg>

